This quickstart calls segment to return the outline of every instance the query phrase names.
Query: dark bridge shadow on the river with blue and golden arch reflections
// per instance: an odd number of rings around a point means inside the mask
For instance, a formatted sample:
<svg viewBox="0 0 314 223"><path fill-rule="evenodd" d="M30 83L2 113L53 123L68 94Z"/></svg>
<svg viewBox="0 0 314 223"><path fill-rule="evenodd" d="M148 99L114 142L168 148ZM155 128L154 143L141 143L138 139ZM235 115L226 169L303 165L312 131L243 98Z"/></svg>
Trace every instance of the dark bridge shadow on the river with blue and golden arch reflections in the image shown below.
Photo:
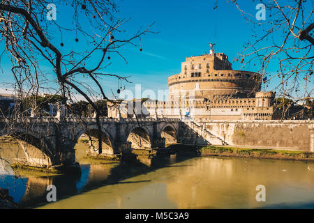
<svg viewBox="0 0 314 223"><path fill-rule="evenodd" d="M47 203L47 186L57 188L57 201L104 185L149 183L151 180L130 182L126 180L140 174L147 174L171 164L188 160L193 156L157 153L156 155L137 155L119 163L83 164L80 176L27 176L15 178L13 175L0 176L0 187L7 188L18 208L36 208Z"/></svg>

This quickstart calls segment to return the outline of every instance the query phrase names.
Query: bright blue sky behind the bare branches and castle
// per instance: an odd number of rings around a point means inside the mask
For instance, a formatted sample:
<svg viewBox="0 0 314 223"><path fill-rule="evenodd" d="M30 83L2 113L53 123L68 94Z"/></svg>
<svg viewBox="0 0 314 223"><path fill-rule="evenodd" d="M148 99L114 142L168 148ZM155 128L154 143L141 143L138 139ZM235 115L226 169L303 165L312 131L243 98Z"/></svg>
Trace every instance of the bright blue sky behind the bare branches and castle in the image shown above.
<svg viewBox="0 0 314 223"><path fill-rule="evenodd" d="M213 6L216 0L118 0L119 16L130 18L124 29L124 35L132 36L140 27L146 27L156 22L152 28L160 33L148 33L142 38L142 49L127 45L121 49L126 57L126 64L119 56L110 55L112 64L106 69L115 75L130 76L132 84L122 84L126 89L134 91L135 84L142 84L142 90L167 89L167 77L180 72L181 62L186 56L196 56L209 52L209 42L216 43L216 52L224 52L230 61L241 52L242 45L251 38L252 29L241 16L239 10L231 3L218 1L218 8ZM253 1L242 1L246 10L255 14L257 3ZM67 25L72 21L66 8L58 8L57 22ZM75 43L75 33L63 33L65 47L61 50L66 54L67 49L84 50L84 45ZM82 39L81 36L78 36ZM54 43L61 42L61 35L56 31ZM60 47L59 47L60 48ZM91 61L93 66L93 61ZM240 63L233 63L234 70L240 68ZM5 82L12 82L10 66L3 66ZM254 70L246 68L245 70ZM271 66L269 67L270 71ZM50 68L45 69L50 72ZM53 78L52 74L50 78ZM82 81L85 81L82 79ZM111 90L117 92L117 79L103 79L101 84L105 86L105 93L111 96ZM269 87L271 89L271 86Z"/></svg>

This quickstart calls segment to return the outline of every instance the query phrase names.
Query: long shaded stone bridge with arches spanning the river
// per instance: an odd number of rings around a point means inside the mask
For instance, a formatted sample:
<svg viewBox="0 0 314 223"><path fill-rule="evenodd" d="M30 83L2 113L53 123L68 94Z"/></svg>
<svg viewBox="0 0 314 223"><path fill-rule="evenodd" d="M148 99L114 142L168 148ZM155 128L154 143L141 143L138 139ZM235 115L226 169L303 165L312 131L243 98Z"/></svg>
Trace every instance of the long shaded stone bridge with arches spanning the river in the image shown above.
<svg viewBox="0 0 314 223"><path fill-rule="evenodd" d="M10 123L10 125L9 125ZM165 148L167 144L209 144L186 123L174 118L103 118L101 155L128 153L132 148ZM0 121L0 135L19 141L26 158L24 164L36 167L73 166L75 145L89 142L98 154L98 127L95 118L24 118ZM22 161L22 160L20 160Z"/></svg>

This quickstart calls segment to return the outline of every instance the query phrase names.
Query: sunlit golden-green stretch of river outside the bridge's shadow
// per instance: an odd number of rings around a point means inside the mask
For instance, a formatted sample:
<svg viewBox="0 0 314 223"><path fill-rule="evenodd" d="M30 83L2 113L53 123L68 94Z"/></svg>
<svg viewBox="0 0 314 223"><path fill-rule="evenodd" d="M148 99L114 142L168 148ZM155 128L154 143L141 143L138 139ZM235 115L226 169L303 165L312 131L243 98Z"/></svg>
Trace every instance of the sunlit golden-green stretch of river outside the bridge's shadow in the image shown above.
<svg viewBox="0 0 314 223"><path fill-rule="evenodd" d="M305 162L191 158L43 208L312 208L313 168ZM255 200L260 184L266 202Z"/></svg>

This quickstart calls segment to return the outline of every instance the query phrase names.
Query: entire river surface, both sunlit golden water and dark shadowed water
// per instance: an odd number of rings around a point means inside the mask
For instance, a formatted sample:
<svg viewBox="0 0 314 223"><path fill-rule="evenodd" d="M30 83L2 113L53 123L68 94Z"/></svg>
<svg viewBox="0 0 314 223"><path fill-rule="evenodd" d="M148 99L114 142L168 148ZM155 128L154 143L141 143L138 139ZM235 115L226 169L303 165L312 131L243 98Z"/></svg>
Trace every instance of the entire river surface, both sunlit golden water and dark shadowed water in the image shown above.
<svg viewBox="0 0 314 223"><path fill-rule="evenodd" d="M2 172L0 187L20 208L314 208L313 162L163 155L81 167L81 176ZM57 202L48 203L51 184ZM256 201L257 185L266 201Z"/></svg>

